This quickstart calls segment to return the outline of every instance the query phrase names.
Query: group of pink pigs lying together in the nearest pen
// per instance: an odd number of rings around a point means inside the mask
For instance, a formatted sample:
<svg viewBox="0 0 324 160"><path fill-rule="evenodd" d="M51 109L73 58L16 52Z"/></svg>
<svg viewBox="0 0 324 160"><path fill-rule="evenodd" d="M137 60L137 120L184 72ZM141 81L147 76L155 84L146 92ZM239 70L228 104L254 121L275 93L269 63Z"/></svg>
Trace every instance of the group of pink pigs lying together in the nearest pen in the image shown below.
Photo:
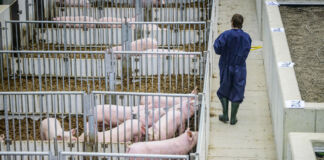
<svg viewBox="0 0 324 160"><path fill-rule="evenodd" d="M194 89L192 94L197 94L197 89ZM97 105L96 124L115 127L97 132L97 141L135 142L128 147L128 153L186 154L197 143L198 133L190 131L189 128L185 130L187 120L196 110L195 98L180 97L146 96L141 98L140 105L137 106ZM71 138L83 142L85 139L85 133L78 138L74 137L75 129L63 131L60 122L55 118L44 119L40 127L44 140ZM180 136L175 137L177 131ZM141 142L145 135L149 141Z"/></svg>

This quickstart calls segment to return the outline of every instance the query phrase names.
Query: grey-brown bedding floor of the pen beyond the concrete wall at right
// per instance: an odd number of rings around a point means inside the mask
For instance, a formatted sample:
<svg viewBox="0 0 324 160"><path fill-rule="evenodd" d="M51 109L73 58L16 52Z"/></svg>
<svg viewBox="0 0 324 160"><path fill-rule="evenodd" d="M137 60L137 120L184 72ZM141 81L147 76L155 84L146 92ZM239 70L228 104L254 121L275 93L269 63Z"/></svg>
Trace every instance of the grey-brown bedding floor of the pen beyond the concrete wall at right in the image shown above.
<svg viewBox="0 0 324 160"><path fill-rule="evenodd" d="M282 6L292 61L302 99L324 102L324 8Z"/></svg>

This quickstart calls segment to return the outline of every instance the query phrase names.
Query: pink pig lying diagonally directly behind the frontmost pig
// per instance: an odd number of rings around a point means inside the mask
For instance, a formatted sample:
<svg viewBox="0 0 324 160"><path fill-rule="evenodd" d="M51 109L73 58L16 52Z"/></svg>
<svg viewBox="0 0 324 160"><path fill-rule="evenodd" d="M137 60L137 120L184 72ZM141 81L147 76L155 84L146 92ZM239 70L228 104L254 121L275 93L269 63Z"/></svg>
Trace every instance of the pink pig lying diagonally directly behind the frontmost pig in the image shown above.
<svg viewBox="0 0 324 160"><path fill-rule="evenodd" d="M182 118L181 112L178 110L169 110L166 115L161 117L159 121L149 128L149 140L165 140L174 137L176 131L182 123L182 128L185 127L185 119ZM183 132L184 130L182 130ZM180 132L181 133L181 132Z"/></svg>

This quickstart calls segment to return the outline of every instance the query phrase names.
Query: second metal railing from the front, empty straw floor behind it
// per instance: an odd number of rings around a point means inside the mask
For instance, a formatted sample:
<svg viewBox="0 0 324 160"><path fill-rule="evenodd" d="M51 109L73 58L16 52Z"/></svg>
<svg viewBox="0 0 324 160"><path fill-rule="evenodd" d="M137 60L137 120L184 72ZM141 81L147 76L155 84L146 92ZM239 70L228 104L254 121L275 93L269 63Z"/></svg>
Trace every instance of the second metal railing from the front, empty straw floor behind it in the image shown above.
<svg viewBox="0 0 324 160"><path fill-rule="evenodd" d="M0 51L0 65L2 91L190 93L204 75L202 53L162 49Z"/></svg>

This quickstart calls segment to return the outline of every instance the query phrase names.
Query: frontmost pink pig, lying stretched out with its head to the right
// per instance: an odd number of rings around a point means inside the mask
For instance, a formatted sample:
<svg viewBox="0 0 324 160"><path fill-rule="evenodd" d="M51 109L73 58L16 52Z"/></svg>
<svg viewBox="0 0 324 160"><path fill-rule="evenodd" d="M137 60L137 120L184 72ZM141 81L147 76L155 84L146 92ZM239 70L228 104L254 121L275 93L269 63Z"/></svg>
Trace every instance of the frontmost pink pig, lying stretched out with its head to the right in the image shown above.
<svg viewBox="0 0 324 160"><path fill-rule="evenodd" d="M179 137L163 141L150 141L134 143L128 147L127 153L131 154L168 154L168 155L186 155L197 144L198 132L191 132L189 129ZM130 158L134 160L135 158ZM143 158L136 158L136 160ZM146 158L145 160L152 160ZM160 158L157 158L160 160Z"/></svg>

